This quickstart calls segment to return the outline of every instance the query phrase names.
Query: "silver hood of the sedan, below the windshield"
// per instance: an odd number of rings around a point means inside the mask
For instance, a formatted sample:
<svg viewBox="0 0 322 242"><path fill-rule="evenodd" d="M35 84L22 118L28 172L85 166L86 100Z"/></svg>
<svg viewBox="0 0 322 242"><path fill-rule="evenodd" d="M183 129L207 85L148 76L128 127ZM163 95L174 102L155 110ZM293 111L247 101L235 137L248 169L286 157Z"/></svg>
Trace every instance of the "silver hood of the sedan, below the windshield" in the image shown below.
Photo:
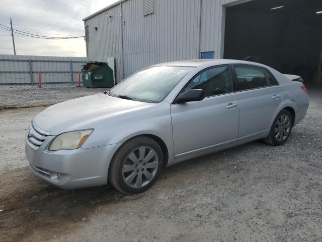
<svg viewBox="0 0 322 242"><path fill-rule="evenodd" d="M68 131L95 129L95 124L104 118L151 105L153 103L126 100L100 93L47 107L35 116L33 122L42 130L55 136Z"/></svg>

